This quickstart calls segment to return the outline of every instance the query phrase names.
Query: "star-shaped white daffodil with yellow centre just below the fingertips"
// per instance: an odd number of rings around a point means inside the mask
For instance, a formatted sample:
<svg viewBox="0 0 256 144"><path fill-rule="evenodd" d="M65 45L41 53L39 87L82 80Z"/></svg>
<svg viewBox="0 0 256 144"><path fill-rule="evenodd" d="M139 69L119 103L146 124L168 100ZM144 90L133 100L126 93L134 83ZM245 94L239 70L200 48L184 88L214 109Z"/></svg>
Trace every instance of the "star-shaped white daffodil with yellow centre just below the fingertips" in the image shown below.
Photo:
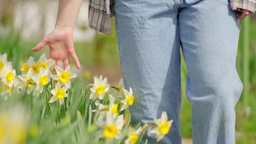
<svg viewBox="0 0 256 144"><path fill-rule="evenodd" d="M70 79L75 78L77 76L77 74L69 72L70 65L68 65L68 67L65 70L61 69L58 66L55 66L55 70L57 72L57 75L53 75L51 76L51 78L57 80L61 86L65 85L66 87L70 88Z"/></svg>

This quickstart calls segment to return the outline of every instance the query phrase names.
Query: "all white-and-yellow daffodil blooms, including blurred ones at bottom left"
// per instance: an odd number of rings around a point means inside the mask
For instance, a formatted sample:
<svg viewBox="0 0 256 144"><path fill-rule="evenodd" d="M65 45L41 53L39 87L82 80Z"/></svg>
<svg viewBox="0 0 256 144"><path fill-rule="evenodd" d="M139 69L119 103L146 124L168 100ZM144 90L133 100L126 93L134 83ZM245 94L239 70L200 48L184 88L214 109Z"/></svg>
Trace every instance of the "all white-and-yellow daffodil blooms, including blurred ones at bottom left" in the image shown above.
<svg viewBox="0 0 256 144"><path fill-rule="evenodd" d="M53 69L55 69L55 74L53 74L54 71L51 71ZM0 96L3 96L5 100L13 92L23 91L26 95L39 96L43 91L50 90L48 102L58 101L62 105L64 99L68 97L67 91L70 89L71 79L77 76L70 73L70 65L62 69L55 65L54 60L48 60L45 54L37 62L30 57L26 63L22 64L20 71L21 75L17 76L15 69L12 68L12 63L7 61L7 55L0 54ZM134 144L141 140L143 134L150 127L153 129L149 132L156 134L157 142L169 133L173 120L168 121L166 112L162 113L161 118L155 119L154 122L148 122L143 127L136 129L128 127L124 111L132 106L136 99L131 87L129 87L129 91L125 89L123 79L120 80L118 86L110 86L107 83L107 78L94 77L94 84L89 84L86 87L91 91L89 99L97 107L92 110L93 120L100 127L95 136L105 138L106 143L124 138L125 144ZM110 94L110 89L114 90L112 94ZM18 113L25 116L23 112L18 111ZM22 133L27 131L26 128L13 126L11 122L16 118L8 117L1 112L0 115L0 143L10 143L10 138L24 142L26 135ZM6 131L1 130L9 125L13 126L15 130L7 136ZM123 130L125 125L127 125L128 131Z"/></svg>

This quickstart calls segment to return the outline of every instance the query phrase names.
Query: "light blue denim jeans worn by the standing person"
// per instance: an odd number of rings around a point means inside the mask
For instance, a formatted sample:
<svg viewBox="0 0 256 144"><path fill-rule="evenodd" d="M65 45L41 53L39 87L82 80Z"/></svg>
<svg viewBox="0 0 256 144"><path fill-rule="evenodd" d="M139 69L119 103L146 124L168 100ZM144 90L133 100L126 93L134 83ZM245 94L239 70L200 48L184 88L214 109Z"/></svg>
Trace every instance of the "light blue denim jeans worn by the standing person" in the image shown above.
<svg viewBox="0 0 256 144"><path fill-rule="evenodd" d="M194 144L235 144L235 110L243 85L235 63L239 20L229 0L115 0L116 36L131 123L173 125L159 143L181 144L180 46L188 76ZM147 131L149 144L156 143Z"/></svg>

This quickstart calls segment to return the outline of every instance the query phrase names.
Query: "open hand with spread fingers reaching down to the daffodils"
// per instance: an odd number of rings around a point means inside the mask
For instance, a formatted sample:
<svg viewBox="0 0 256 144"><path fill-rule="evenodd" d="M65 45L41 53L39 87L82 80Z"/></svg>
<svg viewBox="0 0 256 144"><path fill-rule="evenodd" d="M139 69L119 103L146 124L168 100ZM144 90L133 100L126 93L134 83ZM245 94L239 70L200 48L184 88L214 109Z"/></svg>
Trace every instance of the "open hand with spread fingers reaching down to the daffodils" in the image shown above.
<svg viewBox="0 0 256 144"><path fill-rule="evenodd" d="M81 68L80 62L76 56L73 42L73 29L56 27L53 32L45 36L43 40L37 44L32 51L36 52L49 45L50 56L49 59L56 59L56 65L62 66L62 60L64 62L64 68L69 65L69 57L71 57L78 69Z"/></svg>

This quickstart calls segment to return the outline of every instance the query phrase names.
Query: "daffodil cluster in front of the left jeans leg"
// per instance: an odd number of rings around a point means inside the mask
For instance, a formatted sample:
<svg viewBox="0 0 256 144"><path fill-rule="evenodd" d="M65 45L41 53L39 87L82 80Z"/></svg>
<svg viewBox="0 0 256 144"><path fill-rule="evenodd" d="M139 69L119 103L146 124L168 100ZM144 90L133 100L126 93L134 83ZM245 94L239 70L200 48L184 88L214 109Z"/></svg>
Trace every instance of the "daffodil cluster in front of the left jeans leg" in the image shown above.
<svg viewBox="0 0 256 144"><path fill-rule="evenodd" d="M109 89L114 88L116 91L112 94L108 94L108 105L101 103ZM90 88L90 99L95 100L95 105L98 109L92 110L95 112L95 119L98 121L98 125L102 127L97 135L100 138L105 138L107 143L111 143L113 139L120 139L122 136L122 129L125 125L124 110L133 105L134 95L133 90L130 87L127 91L124 87L123 79L120 80L118 86L109 86L107 84L107 78L94 77L94 84ZM101 102L100 102L101 101ZM120 108L119 108L119 104ZM119 113L121 113L119 115ZM149 127L153 127L150 133L156 134L157 142L160 141L166 134L169 133L173 120L168 121L166 112L163 112L161 118L155 119L154 122L148 122L143 127L134 129L129 126L128 133L126 135L125 144L134 144L141 136L141 133Z"/></svg>

